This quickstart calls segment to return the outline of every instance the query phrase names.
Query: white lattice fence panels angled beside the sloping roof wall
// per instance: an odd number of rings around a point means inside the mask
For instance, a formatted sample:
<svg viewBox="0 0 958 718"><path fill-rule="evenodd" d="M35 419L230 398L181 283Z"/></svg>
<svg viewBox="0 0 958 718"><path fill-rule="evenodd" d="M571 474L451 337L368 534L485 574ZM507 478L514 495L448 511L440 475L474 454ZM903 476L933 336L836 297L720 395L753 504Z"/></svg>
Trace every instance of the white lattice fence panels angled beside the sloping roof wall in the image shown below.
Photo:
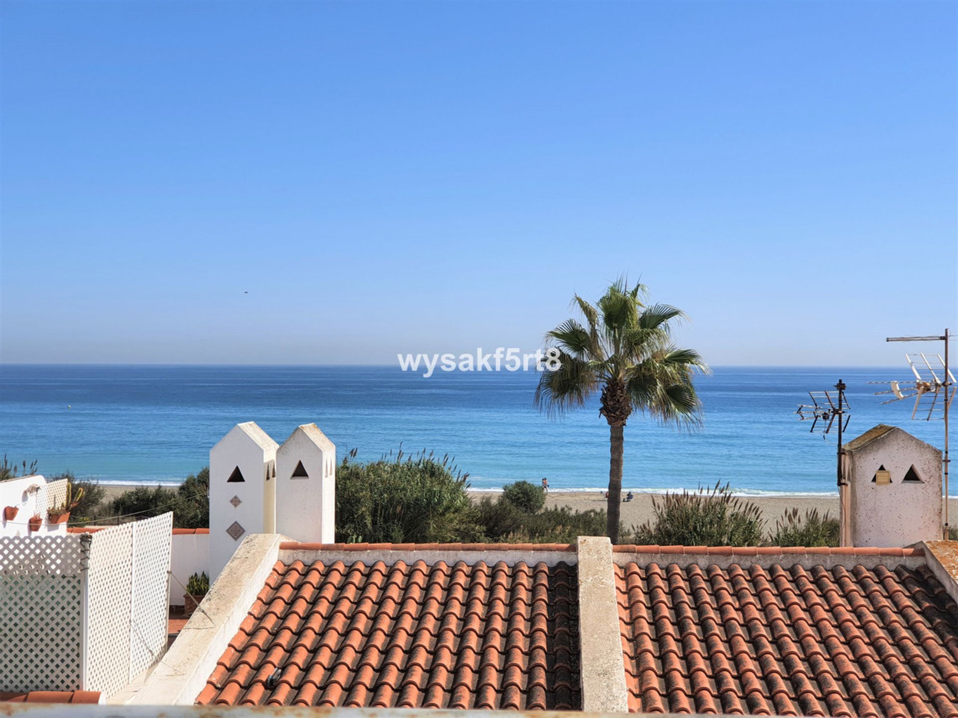
<svg viewBox="0 0 958 718"><path fill-rule="evenodd" d="M115 692L167 643L172 514L93 534L83 687Z"/></svg>

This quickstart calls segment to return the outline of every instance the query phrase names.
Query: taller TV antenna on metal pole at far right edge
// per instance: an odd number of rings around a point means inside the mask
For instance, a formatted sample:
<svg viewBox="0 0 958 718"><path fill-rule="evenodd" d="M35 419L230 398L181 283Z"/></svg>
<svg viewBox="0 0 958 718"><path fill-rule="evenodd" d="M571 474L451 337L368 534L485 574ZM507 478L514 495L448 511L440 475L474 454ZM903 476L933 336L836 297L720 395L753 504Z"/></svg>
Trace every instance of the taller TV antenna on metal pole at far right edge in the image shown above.
<svg viewBox="0 0 958 718"><path fill-rule="evenodd" d="M876 392L877 395L893 394L894 398L882 401L882 404L891 404L902 399L915 399L915 407L911 417L917 420L945 421L945 451L942 452L942 479L945 484L945 529L944 536L948 538L948 409L955 397L955 377L948 368L948 342L953 337L948 329L940 336L927 337L886 337L886 342L945 342L945 358L941 354L905 354L908 366L911 368L913 379L904 381L871 381L869 384L888 384L887 392Z"/></svg>

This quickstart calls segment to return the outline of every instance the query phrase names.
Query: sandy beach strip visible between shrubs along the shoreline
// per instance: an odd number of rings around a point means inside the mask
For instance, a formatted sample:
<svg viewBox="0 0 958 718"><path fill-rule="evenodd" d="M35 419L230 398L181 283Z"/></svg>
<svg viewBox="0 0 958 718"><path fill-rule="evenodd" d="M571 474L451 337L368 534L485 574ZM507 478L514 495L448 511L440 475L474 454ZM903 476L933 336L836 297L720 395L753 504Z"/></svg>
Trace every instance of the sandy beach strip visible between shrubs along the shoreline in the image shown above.
<svg viewBox="0 0 958 718"><path fill-rule="evenodd" d="M102 485L106 490L105 501L110 501L131 488L129 485L105 483ZM497 496L498 494L488 491L470 491L469 495L474 499L479 499L483 496ZM652 517L653 496L656 496L656 494L635 494L632 501L623 503L622 523L626 527L631 527L648 521ZM837 516L838 513L837 496L749 496L742 498L752 502L762 510L769 527L774 527L775 520L794 506L798 506L802 513L810 508L817 508L819 513L830 511L833 516ZM604 508L605 499L598 491L557 491L549 494L546 505L569 506L575 510L583 511L587 508ZM953 517L952 521L958 521L958 499L952 498L948 505L949 512Z"/></svg>

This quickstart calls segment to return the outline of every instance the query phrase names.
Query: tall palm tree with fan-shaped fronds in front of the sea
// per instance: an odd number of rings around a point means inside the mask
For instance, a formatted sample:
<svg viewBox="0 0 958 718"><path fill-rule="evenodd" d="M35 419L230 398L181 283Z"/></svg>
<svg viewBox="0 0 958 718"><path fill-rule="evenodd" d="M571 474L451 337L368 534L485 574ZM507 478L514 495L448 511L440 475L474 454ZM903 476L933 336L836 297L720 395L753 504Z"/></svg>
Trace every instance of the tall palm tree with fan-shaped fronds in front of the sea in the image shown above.
<svg viewBox="0 0 958 718"><path fill-rule="evenodd" d="M609 426L608 537L619 540L623 430L635 412L662 424L693 429L701 423L701 402L693 377L708 367L692 349L676 348L673 324L685 314L668 304L640 302L647 289L628 288L620 279L595 305L576 295L584 325L567 319L546 333L559 351L559 369L545 370L536 388L536 406L551 414L582 407L602 390L599 414Z"/></svg>

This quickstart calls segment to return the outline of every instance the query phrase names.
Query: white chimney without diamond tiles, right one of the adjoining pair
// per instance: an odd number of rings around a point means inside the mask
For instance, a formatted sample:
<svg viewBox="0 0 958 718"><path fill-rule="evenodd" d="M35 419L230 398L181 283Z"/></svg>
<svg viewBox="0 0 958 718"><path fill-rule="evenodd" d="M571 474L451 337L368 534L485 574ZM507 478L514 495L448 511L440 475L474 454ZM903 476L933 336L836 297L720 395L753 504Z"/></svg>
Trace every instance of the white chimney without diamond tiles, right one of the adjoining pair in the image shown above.
<svg viewBox="0 0 958 718"><path fill-rule="evenodd" d="M276 452L276 532L297 541L335 541L336 447L303 424Z"/></svg>

